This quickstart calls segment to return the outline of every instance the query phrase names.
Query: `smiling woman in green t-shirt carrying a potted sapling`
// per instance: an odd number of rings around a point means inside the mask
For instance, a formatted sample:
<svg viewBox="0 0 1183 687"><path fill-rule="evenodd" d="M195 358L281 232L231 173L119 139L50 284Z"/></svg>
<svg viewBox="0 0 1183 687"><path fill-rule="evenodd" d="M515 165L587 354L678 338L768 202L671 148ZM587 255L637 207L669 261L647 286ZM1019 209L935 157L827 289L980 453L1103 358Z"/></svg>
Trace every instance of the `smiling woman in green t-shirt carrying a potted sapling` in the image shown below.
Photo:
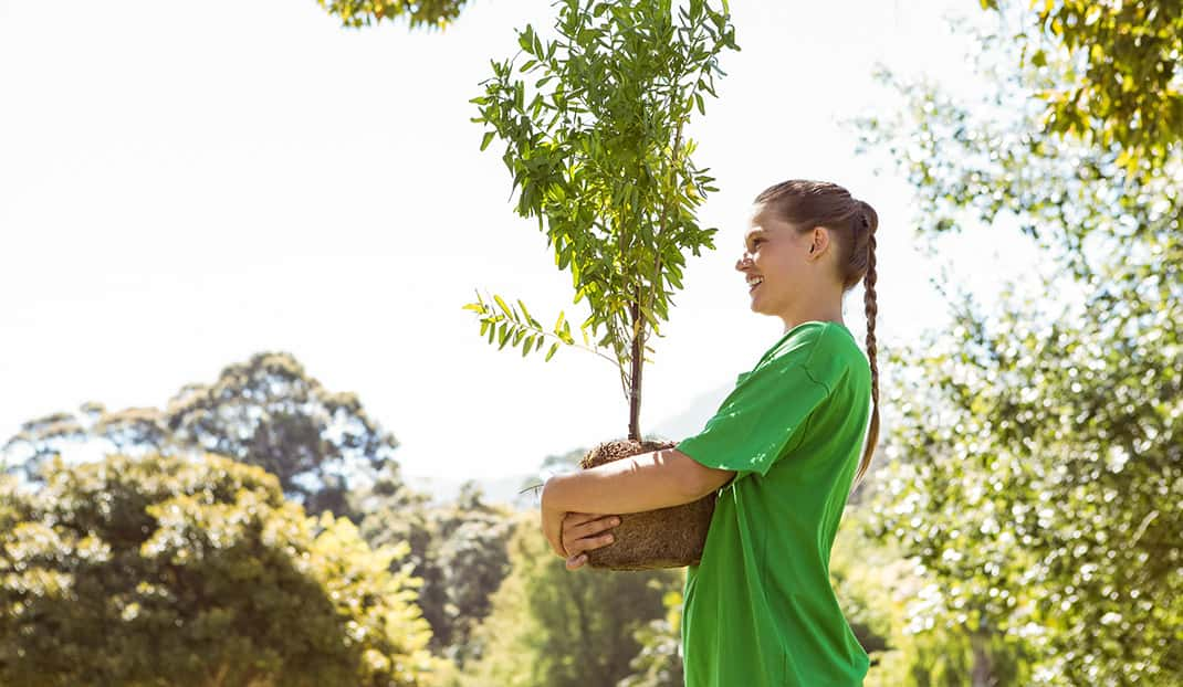
<svg viewBox="0 0 1183 687"><path fill-rule="evenodd" d="M846 687L866 675L867 654L829 584L829 553L879 436L877 226L870 205L833 183L761 193L736 270L751 309L780 317L783 336L698 435L543 488L543 531L571 570L612 542L618 519L602 513L718 491L703 558L686 575L687 687ZM842 296L859 281L867 357L842 322Z"/></svg>

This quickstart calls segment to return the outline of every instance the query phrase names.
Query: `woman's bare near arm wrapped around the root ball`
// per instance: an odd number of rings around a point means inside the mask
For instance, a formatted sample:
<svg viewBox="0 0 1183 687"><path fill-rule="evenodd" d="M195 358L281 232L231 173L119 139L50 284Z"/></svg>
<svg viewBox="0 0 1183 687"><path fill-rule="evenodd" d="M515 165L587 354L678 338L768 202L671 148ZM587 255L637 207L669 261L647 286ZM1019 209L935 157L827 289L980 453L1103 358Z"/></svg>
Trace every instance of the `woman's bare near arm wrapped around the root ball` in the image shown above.
<svg viewBox="0 0 1183 687"><path fill-rule="evenodd" d="M562 557L562 520L576 513L639 513L696 501L735 472L706 467L677 448L642 453L547 480L542 529Z"/></svg>

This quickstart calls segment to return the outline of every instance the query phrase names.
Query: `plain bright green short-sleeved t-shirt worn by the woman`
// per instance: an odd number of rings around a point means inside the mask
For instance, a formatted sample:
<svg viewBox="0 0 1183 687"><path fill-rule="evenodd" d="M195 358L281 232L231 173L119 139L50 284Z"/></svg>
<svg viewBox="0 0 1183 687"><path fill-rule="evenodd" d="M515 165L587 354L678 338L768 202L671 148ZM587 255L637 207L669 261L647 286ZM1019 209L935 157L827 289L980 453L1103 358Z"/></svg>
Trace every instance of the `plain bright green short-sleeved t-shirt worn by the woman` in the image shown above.
<svg viewBox="0 0 1183 687"><path fill-rule="evenodd" d="M871 369L838 323L786 333L678 451L736 477L686 576L686 687L849 687L870 660L829 583Z"/></svg>

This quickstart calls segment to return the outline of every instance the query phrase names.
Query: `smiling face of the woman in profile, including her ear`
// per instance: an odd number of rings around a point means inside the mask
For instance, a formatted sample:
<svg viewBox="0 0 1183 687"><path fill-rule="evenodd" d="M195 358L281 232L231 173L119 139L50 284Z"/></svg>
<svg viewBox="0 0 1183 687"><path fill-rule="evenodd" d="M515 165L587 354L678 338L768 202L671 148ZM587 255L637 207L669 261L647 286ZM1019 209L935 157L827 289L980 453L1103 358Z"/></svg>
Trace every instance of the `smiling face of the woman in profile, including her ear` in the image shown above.
<svg viewBox="0 0 1183 687"><path fill-rule="evenodd" d="M778 317L795 312L799 300L810 297L817 258L827 242L825 229L799 232L757 205L744 235L744 254L736 263L736 270L748 281L751 310Z"/></svg>

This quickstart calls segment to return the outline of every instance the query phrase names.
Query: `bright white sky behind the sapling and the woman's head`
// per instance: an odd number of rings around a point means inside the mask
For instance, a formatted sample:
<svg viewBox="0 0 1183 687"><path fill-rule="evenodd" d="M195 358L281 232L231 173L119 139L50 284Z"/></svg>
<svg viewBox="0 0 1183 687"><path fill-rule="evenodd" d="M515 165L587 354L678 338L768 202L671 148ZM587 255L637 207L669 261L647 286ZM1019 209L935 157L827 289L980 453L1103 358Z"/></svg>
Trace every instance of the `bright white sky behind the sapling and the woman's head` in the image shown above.
<svg viewBox="0 0 1183 687"><path fill-rule="evenodd" d="M692 130L722 188L700 214L719 249L689 259L645 429L780 337L733 264L750 199L783 179L879 210L881 341L938 322L909 190L839 123L884 106L877 60L957 78L964 39L940 20L956 5L732 2L743 51ZM461 310L480 289L544 323L586 315L512 212L502 144L480 153L470 122L489 59L552 18L548 0L476 0L446 32L411 33L341 28L312 0L0 0L0 442L86 401L163 406L263 350L356 391L408 474L529 472L623 436L612 365L497 351ZM860 291L847 310L861 337Z"/></svg>

